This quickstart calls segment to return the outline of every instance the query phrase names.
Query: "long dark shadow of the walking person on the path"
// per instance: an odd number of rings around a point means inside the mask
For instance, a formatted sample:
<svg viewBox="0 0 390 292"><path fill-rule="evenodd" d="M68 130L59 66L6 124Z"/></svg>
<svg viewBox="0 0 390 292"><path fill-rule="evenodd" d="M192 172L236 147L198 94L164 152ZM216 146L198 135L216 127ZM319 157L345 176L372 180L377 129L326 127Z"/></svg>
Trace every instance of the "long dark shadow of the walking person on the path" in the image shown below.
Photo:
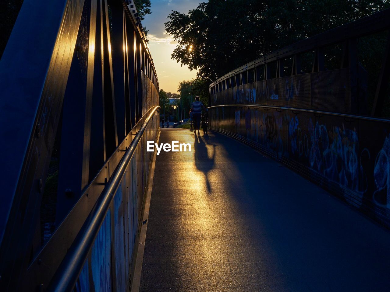
<svg viewBox="0 0 390 292"><path fill-rule="evenodd" d="M204 138L207 139L208 138ZM208 144L205 143L205 141L202 139L202 137L199 137L199 135L195 135L195 143L194 143L194 149L195 149L195 166L197 169L203 172L205 178L206 178L206 186L207 191L211 192L211 185L209 181L209 177L207 173L211 171L211 169L214 168L214 160L215 160L215 146L214 144ZM209 157L208 150L211 149L213 154L211 157Z"/></svg>

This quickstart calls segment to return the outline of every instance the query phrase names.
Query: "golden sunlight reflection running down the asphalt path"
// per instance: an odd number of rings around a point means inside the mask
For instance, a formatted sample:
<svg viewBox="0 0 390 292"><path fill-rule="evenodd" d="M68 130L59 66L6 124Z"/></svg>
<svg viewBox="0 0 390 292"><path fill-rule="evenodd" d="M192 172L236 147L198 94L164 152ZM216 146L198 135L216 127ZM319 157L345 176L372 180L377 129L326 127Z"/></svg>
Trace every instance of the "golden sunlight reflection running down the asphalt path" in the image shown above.
<svg viewBox="0 0 390 292"><path fill-rule="evenodd" d="M243 280L238 275L251 273L247 260L241 258L243 247L236 241L243 236L242 222L231 219L240 210L226 197L230 185L240 181L239 171L226 160L225 149L213 143L213 135L170 130L163 134L169 136L167 141L190 143L192 148L191 152L164 153L175 160L170 183L181 190L176 197L180 227L175 228L174 236L182 285L193 291L234 291ZM218 166L226 164L229 172L236 173L234 180ZM257 255L251 258L255 260Z"/></svg>

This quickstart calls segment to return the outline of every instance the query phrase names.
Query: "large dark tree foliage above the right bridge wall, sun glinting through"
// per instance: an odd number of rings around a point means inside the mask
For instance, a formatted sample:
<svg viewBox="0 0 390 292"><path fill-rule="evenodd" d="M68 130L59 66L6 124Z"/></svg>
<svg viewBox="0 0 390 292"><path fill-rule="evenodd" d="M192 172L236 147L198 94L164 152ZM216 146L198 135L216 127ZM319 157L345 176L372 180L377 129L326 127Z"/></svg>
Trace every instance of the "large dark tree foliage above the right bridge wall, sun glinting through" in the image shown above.
<svg viewBox="0 0 390 292"><path fill-rule="evenodd" d="M388 0L210 0L188 14L172 11L165 29L178 42L172 59L197 69L202 79L215 80L276 49L387 7Z"/></svg>

